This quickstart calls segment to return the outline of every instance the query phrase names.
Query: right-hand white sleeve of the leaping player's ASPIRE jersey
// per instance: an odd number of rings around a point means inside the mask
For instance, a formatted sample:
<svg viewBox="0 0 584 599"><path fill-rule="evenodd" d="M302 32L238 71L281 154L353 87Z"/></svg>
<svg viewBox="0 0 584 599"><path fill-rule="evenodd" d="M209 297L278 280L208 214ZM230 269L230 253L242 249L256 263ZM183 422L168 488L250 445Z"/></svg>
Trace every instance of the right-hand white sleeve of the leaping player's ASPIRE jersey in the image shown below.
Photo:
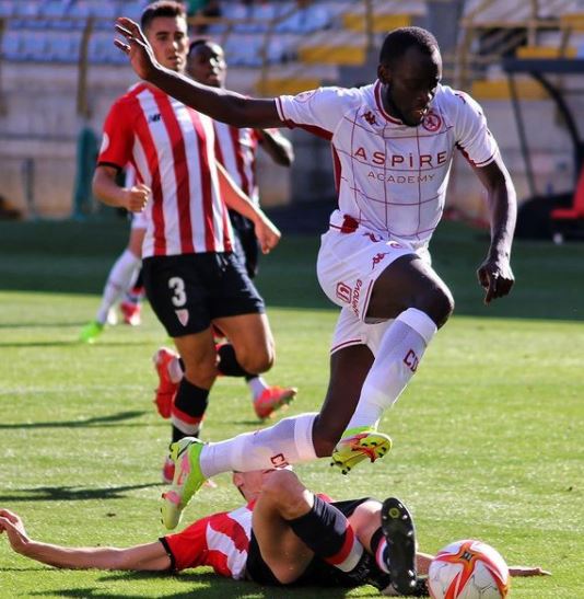
<svg viewBox="0 0 584 599"><path fill-rule="evenodd" d="M489 127L480 104L468 94L455 92L456 145L475 166L486 166L499 152L499 147Z"/></svg>

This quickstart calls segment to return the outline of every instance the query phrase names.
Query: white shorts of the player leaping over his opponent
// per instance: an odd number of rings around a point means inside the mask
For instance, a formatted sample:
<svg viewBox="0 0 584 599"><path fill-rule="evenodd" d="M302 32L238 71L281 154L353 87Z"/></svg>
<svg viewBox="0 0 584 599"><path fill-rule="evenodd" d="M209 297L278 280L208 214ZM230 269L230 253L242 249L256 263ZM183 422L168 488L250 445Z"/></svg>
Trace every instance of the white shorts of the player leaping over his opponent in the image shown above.
<svg viewBox="0 0 584 599"><path fill-rule="evenodd" d="M330 301L350 309L365 322L377 277L398 257L416 253L408 243L385 239L362 226L352 232L342 232L331 223L320 238L316 262L318 283Z"/></svg>

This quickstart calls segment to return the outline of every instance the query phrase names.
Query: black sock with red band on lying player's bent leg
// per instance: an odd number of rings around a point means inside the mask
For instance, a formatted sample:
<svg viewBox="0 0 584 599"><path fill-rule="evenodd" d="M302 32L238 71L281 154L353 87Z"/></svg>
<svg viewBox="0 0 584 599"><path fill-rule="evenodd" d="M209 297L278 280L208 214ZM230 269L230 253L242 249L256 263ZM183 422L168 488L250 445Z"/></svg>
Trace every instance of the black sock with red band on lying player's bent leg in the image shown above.
<svg viewBox="0 0 584 599"><path fill-rule="evenodd" d="M355 562L364 553L343 514L320 497L314 497L308 514L288 520L288 523L318 557L344 573L354 569Z"/></svg>

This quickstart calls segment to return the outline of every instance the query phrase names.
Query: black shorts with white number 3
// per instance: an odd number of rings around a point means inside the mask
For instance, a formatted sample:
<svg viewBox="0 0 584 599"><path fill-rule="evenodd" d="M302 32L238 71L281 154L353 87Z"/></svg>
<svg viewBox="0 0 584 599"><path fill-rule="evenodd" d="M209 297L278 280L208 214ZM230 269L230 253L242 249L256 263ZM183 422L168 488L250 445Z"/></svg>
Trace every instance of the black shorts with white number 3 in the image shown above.
<svg viewBox="0 0 584 599"><path fill-rule="evenodd" d="M233 253L151 256L142 267L150 304L171 337L200 333L214 319L266 311Z"/></svg>

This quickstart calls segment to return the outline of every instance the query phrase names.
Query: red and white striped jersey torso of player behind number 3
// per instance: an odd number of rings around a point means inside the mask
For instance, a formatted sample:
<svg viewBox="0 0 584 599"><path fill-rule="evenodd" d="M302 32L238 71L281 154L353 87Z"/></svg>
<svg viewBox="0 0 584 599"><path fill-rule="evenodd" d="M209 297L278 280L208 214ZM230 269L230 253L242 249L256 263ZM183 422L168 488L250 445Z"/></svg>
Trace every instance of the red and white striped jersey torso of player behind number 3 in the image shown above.
<svg viewBox="0 0 584 599"><path fill-rule="evenodd" d="M256 181L256 154L259 137L255 129L232 127L213 122L215 129L215 155L225 166L233 181L252 201L259 204Z"/></svg>

